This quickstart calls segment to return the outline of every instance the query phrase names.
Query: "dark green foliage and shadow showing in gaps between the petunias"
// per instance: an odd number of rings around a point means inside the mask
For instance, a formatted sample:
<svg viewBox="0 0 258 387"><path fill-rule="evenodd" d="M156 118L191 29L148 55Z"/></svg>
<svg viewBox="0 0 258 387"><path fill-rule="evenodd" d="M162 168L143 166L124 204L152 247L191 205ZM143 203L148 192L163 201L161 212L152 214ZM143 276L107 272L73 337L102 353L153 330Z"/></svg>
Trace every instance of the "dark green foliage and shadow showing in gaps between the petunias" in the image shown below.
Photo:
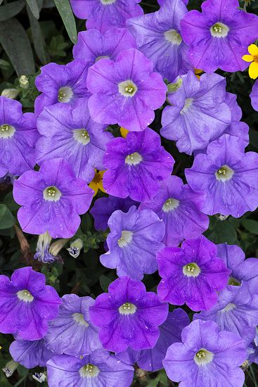
<svg viewBox="0 0 258 387"><path fill-rule="evenodd" d="M200 9L200 4L201 0L190 0L188 9ZM240 7L244 4L245 1L240 1ZM141 6L145 13L155 12L159 8L156 0L142 1ZM247 6L247 11L258 15L258 1L253 0ZM70 62L77 32L82 30L85 30L85 22L74 18L69 0L0 0L0 94L4 89L19 89L17 99L25 111L33 111L34 99L38 95L34 78L39 73L39 68L49 62ZM227 91L237 94L238 104L243 110L242 120L250 127L250 145L247 150L258 152L258 113L252 109L249 98L254 81L250 80L247 71L219 73L226 77ZM20 88L20 75L30 75L29 89ZM155 121L150 125L156 132L160 129L160 115L161 110L157 110ZM114 136L120 135L116 125L110 127L110 130ZM184 168L191 167L193 158L179 153L172 141L162 138L162 145L176 160L174 175L185 180ZM98 191L96 198L103 195ZM54 286L60 296L76 293L79 296L95 298L99 293L107 291L108 285L116 277L115 270L103 267L98 257L103 253L103 241L108 231L96 232L89 213L82 216L78 235L84 241L84 251L79 258L71 258L63 249L60 255L64 265L41 265L33 260L37 236L22 234L16 218L17 210L18 205L12 196L12 185L8 180L0 179L0 274L10 276L15 269L32 265L34 269L46 275L48 284ZM247 258L258 257L257 214L257 211L247 212L240 219L229 217L224 221L214 215L210 217L209 229L205 236L214 243L226 242L241 246ZM155 291L159 277L155 273L146 276L143 281L149 291ZM191 316L191 310L187 307L186 310ZM0 386L42 386L32 379L32 374L37 369L27 370L19 366L10 379L6 379L4 372L1 372L6 362L11 360L8 353L11 341L12 335L0 334ZM43 385L46 387L47 383ZM164 371L146 373L136 369L133 386L167 387L177 384L169 381ZM246 386L258 386L258 366L252 365L247 369Z"/></svg>

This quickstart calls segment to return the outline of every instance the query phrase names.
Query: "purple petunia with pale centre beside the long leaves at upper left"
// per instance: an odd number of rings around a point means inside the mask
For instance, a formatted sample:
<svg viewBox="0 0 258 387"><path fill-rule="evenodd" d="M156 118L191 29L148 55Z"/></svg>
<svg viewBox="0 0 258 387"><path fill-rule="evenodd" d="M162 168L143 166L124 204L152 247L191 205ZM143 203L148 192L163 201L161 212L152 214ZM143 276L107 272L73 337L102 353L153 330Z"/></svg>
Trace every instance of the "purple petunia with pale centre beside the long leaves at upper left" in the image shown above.
<svg viewBox="0 0 258 387"><path fill-rule="evenodd" d="M86 77L90 65L89 61L75 59L67 65L49 63L41 67L35 84L42 94L35 100L35 113L39 115L45 106L73 104L77 99L89 96Z"/></svg>

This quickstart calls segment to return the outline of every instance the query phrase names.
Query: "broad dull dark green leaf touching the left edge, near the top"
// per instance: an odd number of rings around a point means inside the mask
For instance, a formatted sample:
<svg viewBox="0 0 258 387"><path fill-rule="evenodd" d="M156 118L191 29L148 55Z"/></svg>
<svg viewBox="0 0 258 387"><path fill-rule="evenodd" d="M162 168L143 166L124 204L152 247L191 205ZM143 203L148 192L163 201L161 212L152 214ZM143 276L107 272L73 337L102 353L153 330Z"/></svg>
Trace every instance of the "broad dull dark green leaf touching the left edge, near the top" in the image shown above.
<svg viewBox="0 0 258 387"><path fill-rule="evenodd" d="M30 75L35 71L30 41L22 25L15 18L0 23L0 43L20 75Z"/></svg>

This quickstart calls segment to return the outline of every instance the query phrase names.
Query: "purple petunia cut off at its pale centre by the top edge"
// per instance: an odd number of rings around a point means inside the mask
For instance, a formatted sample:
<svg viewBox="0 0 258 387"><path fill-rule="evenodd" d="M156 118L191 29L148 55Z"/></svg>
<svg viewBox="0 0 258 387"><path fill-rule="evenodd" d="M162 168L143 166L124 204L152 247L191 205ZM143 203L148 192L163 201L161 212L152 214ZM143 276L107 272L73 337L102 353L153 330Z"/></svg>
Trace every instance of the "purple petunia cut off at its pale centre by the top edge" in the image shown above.
<svg viewBox="0 0 258 387"><path fill-rule="evenodd" d="M142 15L141 0L71 0L77 18L87 19L86 28L106 32L112 27L125 27L128 18Z"/></svg>

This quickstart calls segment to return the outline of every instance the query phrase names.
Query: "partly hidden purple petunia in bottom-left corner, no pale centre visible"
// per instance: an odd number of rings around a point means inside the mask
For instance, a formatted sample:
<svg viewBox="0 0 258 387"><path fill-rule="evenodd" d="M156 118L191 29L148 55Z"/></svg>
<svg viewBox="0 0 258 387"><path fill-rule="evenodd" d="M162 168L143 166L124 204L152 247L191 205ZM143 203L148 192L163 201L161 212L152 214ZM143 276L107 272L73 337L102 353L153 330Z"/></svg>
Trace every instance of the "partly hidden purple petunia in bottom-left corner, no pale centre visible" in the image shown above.
<svg viewBox="0 0 258 387"><path fill-rule="evenodd" d="M55 354L46 348L44 338L36 341L15 340L11 343L9 351L15 362L28 369L46 367L46 362Z"/></svg>

